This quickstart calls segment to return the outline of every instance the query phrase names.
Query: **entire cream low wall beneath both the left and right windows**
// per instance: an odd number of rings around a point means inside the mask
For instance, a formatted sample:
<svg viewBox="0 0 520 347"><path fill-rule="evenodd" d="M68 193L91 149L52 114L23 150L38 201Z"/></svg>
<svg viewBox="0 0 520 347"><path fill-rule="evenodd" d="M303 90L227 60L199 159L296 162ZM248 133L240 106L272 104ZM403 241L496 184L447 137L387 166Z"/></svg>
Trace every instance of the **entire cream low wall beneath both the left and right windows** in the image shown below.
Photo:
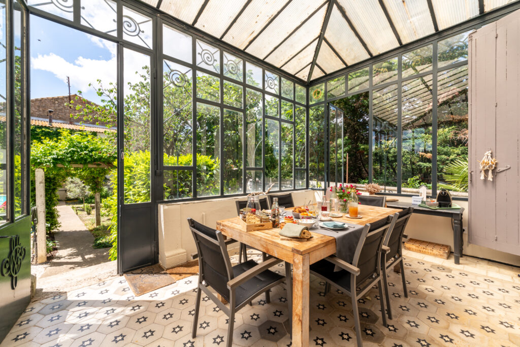
<svg viewBox="0 0 520 347"><path fill-rule="evenodd" d="M298 190L293 191L292 194L296 205L302 205L311 199L314 201L313 190ZM215 227L216 221L237 215L236 200L237 198L222 198L159 205L160 264L165 268L171 268L190 260L191 254L197 252L186 221L189 217L204 225ZM399 201L411 202L411 197L399 197ZM464 254L520 266L520 256L468 245L467 201L457 200L456 203L465 209L463 215L463 224L466 229L463 236ZM449 218L413 214L410 217L406 233L412 238L450 245L453 250L453 231Z"/></svg>

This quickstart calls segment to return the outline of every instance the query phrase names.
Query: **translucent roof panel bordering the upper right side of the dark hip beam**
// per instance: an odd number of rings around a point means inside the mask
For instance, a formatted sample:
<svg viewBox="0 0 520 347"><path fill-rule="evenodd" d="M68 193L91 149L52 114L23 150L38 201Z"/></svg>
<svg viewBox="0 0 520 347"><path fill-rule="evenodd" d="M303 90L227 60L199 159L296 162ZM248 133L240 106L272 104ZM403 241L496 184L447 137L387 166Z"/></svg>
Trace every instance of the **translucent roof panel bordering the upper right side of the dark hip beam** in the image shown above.
<svg viewBox="0 0 520 347"><path fill-rule="evenodd" d="M330 15L325 38L348 65L370 58L335 5Z"/></svg>

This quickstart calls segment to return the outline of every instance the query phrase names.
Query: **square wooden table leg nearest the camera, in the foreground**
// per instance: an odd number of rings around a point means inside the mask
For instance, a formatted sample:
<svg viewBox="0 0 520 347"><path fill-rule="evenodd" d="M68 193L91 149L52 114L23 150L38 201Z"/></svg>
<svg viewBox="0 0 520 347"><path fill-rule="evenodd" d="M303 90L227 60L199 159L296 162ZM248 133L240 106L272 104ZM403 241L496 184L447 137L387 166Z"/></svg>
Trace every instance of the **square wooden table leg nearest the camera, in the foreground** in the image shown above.
<svg viewBox="0 0 520 347"><path fill-rule="evenodd" d="M309 254L293 254L292 345L309 343Z"/></svg>

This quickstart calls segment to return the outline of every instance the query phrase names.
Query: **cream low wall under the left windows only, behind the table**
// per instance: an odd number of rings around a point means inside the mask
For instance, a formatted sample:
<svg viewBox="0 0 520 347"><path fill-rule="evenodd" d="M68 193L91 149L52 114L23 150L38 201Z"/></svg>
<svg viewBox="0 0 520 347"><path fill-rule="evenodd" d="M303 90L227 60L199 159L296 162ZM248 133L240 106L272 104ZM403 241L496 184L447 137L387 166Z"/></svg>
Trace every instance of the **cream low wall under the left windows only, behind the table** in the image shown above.
<svg viewBox="0 0 520 347"><path fill-rule="evenodd" d="M311 199L314 201L313 190L297 190L292 191L292 194L296 205ZM165 268L171 268L191 260L191 254L196 253L197 248L186 220L191 217L214 228L218 220L237 216L237 200L245 200L245 197L160 204L159 263Z"/></svg>

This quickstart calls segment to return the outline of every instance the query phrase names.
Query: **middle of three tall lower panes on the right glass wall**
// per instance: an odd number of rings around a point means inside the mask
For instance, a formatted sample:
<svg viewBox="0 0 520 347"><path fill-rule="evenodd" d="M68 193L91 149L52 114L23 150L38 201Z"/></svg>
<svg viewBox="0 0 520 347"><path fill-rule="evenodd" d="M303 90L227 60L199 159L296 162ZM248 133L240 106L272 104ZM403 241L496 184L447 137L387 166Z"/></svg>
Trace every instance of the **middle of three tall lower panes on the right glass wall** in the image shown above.
<svg viewBox="0 0 520 347"><path fill-rule="evenodd" d="M402 184L432 183L432 75L402 83Z"/></svg>

